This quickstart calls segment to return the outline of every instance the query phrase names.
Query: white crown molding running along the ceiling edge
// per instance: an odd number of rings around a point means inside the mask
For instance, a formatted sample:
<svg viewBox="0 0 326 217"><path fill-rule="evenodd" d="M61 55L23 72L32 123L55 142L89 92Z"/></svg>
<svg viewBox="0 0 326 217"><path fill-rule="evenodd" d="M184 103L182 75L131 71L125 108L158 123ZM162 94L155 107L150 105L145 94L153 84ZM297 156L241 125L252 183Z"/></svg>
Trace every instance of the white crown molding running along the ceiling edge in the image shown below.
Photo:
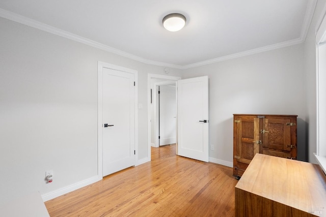
<svg viewBox="0 0 326 217"><path fill-rule="evenodd" d="M307 7L307 10L306 10L305 19L304 19L304 22L303 22L303 25L302 25L301 35L300 35L300 38L298 38L298 39L294 39L294 40L290 40L290 41L287 41L287 42L282 42L282 43L278 43L278 44L274 44L274 45L268 45L268 46L260 47L260 48L257 48L257 49L247 50L247 51L243 51L243 52L239 52L239 53L235 53L235 54L231 54L231 55L221 56L221 57L218 57L218 58L208 59L208 60L205 60L205 61L200 61L198 63L184 65L184 66L145 59L145 58L142 58L140 56L136 56L136 55L133 55L133 54L118 50L116 48L113 48L113 47L98 43L96 41L93 41L93 40L90 40L90 39L87 39L87 38L84 38L84 37L80 37L78 35L69 33L69 32L67 32L65 30L62 30L62 29L47 25L45 23L38 22L36 20L33 20L33 19L21 16L21 15L15 14L15 13L10 12L10 11L6 11L4 9L0 9L0 17L4 17L6 19L9 19L9 20L12 20L12 21L15 21L15 22L19 22L19 23L22 23L22 24L25 24L25 25L28 25L28 26L31 26L31 27L34 27L34 28L38 28L38 29L43 30L45 32L55 34L55 35L58 35L58 36L61 36L61 37L64 37L64 38L67 38L67 39L70 39L70 40L73 40L73 41L76 41L76 42L80 42L80 43L83 43L83 44L86 44L86 45L89 45L89 46L92 46L92 47L95 47L95 48L98 48L98 49L101 49L101 50L105 50L105 51L108 51L108 52L111 52L111 53L115 53L117 55L124 56L124 57L139 61L139 62L144 63L144 64L184 70L184 69L204 66L204 65L208 65L208 64L218 63L220 61L234 59L234 58L238 58L238 57L242 57L242 56L248 56L248 55L261 53L261 52L265 52L265 51L269 51L269 50L274 50L274 49L279 49L279 48L283 48L283 47L287 47L287 46L292 46L292 45L295 45L295 44L304 43L305 40L306 40L306 36L307 36L307 33L308 33L308 29L309 29L312 17L313 17L313 13L314 13L314 10L315 10L315 7L316 7L316 3L317 3L317 0L309 0L308 7Z"/></svg>

